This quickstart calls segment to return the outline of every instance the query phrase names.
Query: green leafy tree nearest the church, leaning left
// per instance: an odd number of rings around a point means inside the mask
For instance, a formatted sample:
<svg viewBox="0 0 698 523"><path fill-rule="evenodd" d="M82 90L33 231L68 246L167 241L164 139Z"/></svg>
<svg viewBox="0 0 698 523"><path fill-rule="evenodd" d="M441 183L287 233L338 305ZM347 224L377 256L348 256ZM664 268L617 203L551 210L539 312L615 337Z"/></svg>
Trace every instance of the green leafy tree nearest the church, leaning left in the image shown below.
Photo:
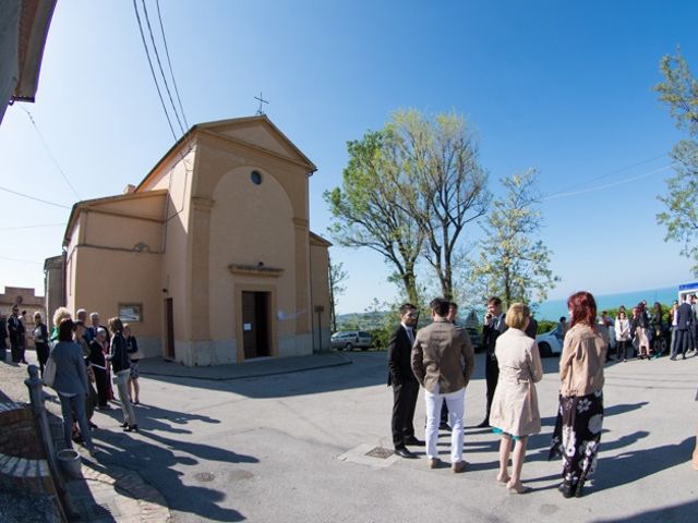
<svg viewBox="0 0 698 523"><path fill-rule="evenodd" d="M385 131L368 132L347 143L349 163L342 187L324 193L335 217L329 228L344 246L369 247L393 266L393 281L400 281L412 303L419 303L416 266L424 233L407 212L401 184L410 181L388 153Z"/></svg>

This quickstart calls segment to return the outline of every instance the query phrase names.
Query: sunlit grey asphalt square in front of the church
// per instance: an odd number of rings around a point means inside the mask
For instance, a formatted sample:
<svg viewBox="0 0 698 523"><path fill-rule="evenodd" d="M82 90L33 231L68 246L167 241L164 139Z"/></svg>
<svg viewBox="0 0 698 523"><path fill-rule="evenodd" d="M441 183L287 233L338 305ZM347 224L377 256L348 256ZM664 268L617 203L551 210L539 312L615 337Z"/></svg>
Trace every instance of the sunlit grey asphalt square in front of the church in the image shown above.
<svg viewBox="0 0 698 523"><path fill-rule="evenodd" d="M142 376L137 435L97 413L100 462L137 471L167 499L176 522L694 522L698 472L698 357L630 361L606 368L599 467L586 495L556 490L547 461L557 406L557 360L538 385L543 431L530 438L524 483L495 484L498 439L483 417L482 354L466 398L464 474L421 458L366 458L390 448L385 353L347 354L350 365L263 378ZM417 425L424 418L420 392ZM105 429L106 428L106 429ZM423 435L418 435L420 439ZM440 448L448 457L444 433Z"/></svg>

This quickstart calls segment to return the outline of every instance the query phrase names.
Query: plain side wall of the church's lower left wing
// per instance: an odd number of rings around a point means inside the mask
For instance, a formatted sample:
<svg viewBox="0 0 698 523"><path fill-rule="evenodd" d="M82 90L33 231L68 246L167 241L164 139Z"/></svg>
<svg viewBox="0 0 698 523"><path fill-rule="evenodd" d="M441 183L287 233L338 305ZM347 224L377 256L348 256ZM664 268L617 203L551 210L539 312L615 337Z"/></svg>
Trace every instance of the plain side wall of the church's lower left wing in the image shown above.
<svg viewBox="0 0 698 523"><path fill-rule="evenodd" d="M132 323L133 332L146 355L153 356L161 353L160 253L166 196L164 192L151 193L81 209L67 256L71 312L97 312L107 325L108 318L118 315L120 304L140 304L143 321Z"/></svg>

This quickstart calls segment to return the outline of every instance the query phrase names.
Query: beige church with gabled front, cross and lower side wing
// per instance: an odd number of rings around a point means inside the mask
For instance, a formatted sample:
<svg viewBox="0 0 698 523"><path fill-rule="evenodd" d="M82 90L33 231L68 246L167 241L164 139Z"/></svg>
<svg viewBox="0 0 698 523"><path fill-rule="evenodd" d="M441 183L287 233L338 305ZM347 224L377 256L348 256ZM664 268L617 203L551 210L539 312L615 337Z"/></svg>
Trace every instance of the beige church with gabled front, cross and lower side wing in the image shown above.
<svg viewBox="0 0 698 523"><path fill-rule="evenodd" d="M63 301L188 366L328 350L315 170L266 115L194 125L136 187L75 204Z"/></svg>

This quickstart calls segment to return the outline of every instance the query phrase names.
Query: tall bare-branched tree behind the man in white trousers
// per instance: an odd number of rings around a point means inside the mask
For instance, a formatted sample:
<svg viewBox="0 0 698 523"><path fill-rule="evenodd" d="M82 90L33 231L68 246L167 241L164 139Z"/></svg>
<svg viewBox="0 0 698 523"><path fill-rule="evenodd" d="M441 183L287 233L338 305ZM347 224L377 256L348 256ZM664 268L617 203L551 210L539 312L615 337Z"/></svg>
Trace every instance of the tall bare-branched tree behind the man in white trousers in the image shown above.
<svg viewBox="0 0 698 523"><path fill-rule="evenodd" d="M477 142L456 113L400 110L386 129L390 157L410 182L399 184L400 202L425 236L422 255L436 272L441 294L452 300L466 251L459 248L461 233L485 214L491 199Z"/></svg>

